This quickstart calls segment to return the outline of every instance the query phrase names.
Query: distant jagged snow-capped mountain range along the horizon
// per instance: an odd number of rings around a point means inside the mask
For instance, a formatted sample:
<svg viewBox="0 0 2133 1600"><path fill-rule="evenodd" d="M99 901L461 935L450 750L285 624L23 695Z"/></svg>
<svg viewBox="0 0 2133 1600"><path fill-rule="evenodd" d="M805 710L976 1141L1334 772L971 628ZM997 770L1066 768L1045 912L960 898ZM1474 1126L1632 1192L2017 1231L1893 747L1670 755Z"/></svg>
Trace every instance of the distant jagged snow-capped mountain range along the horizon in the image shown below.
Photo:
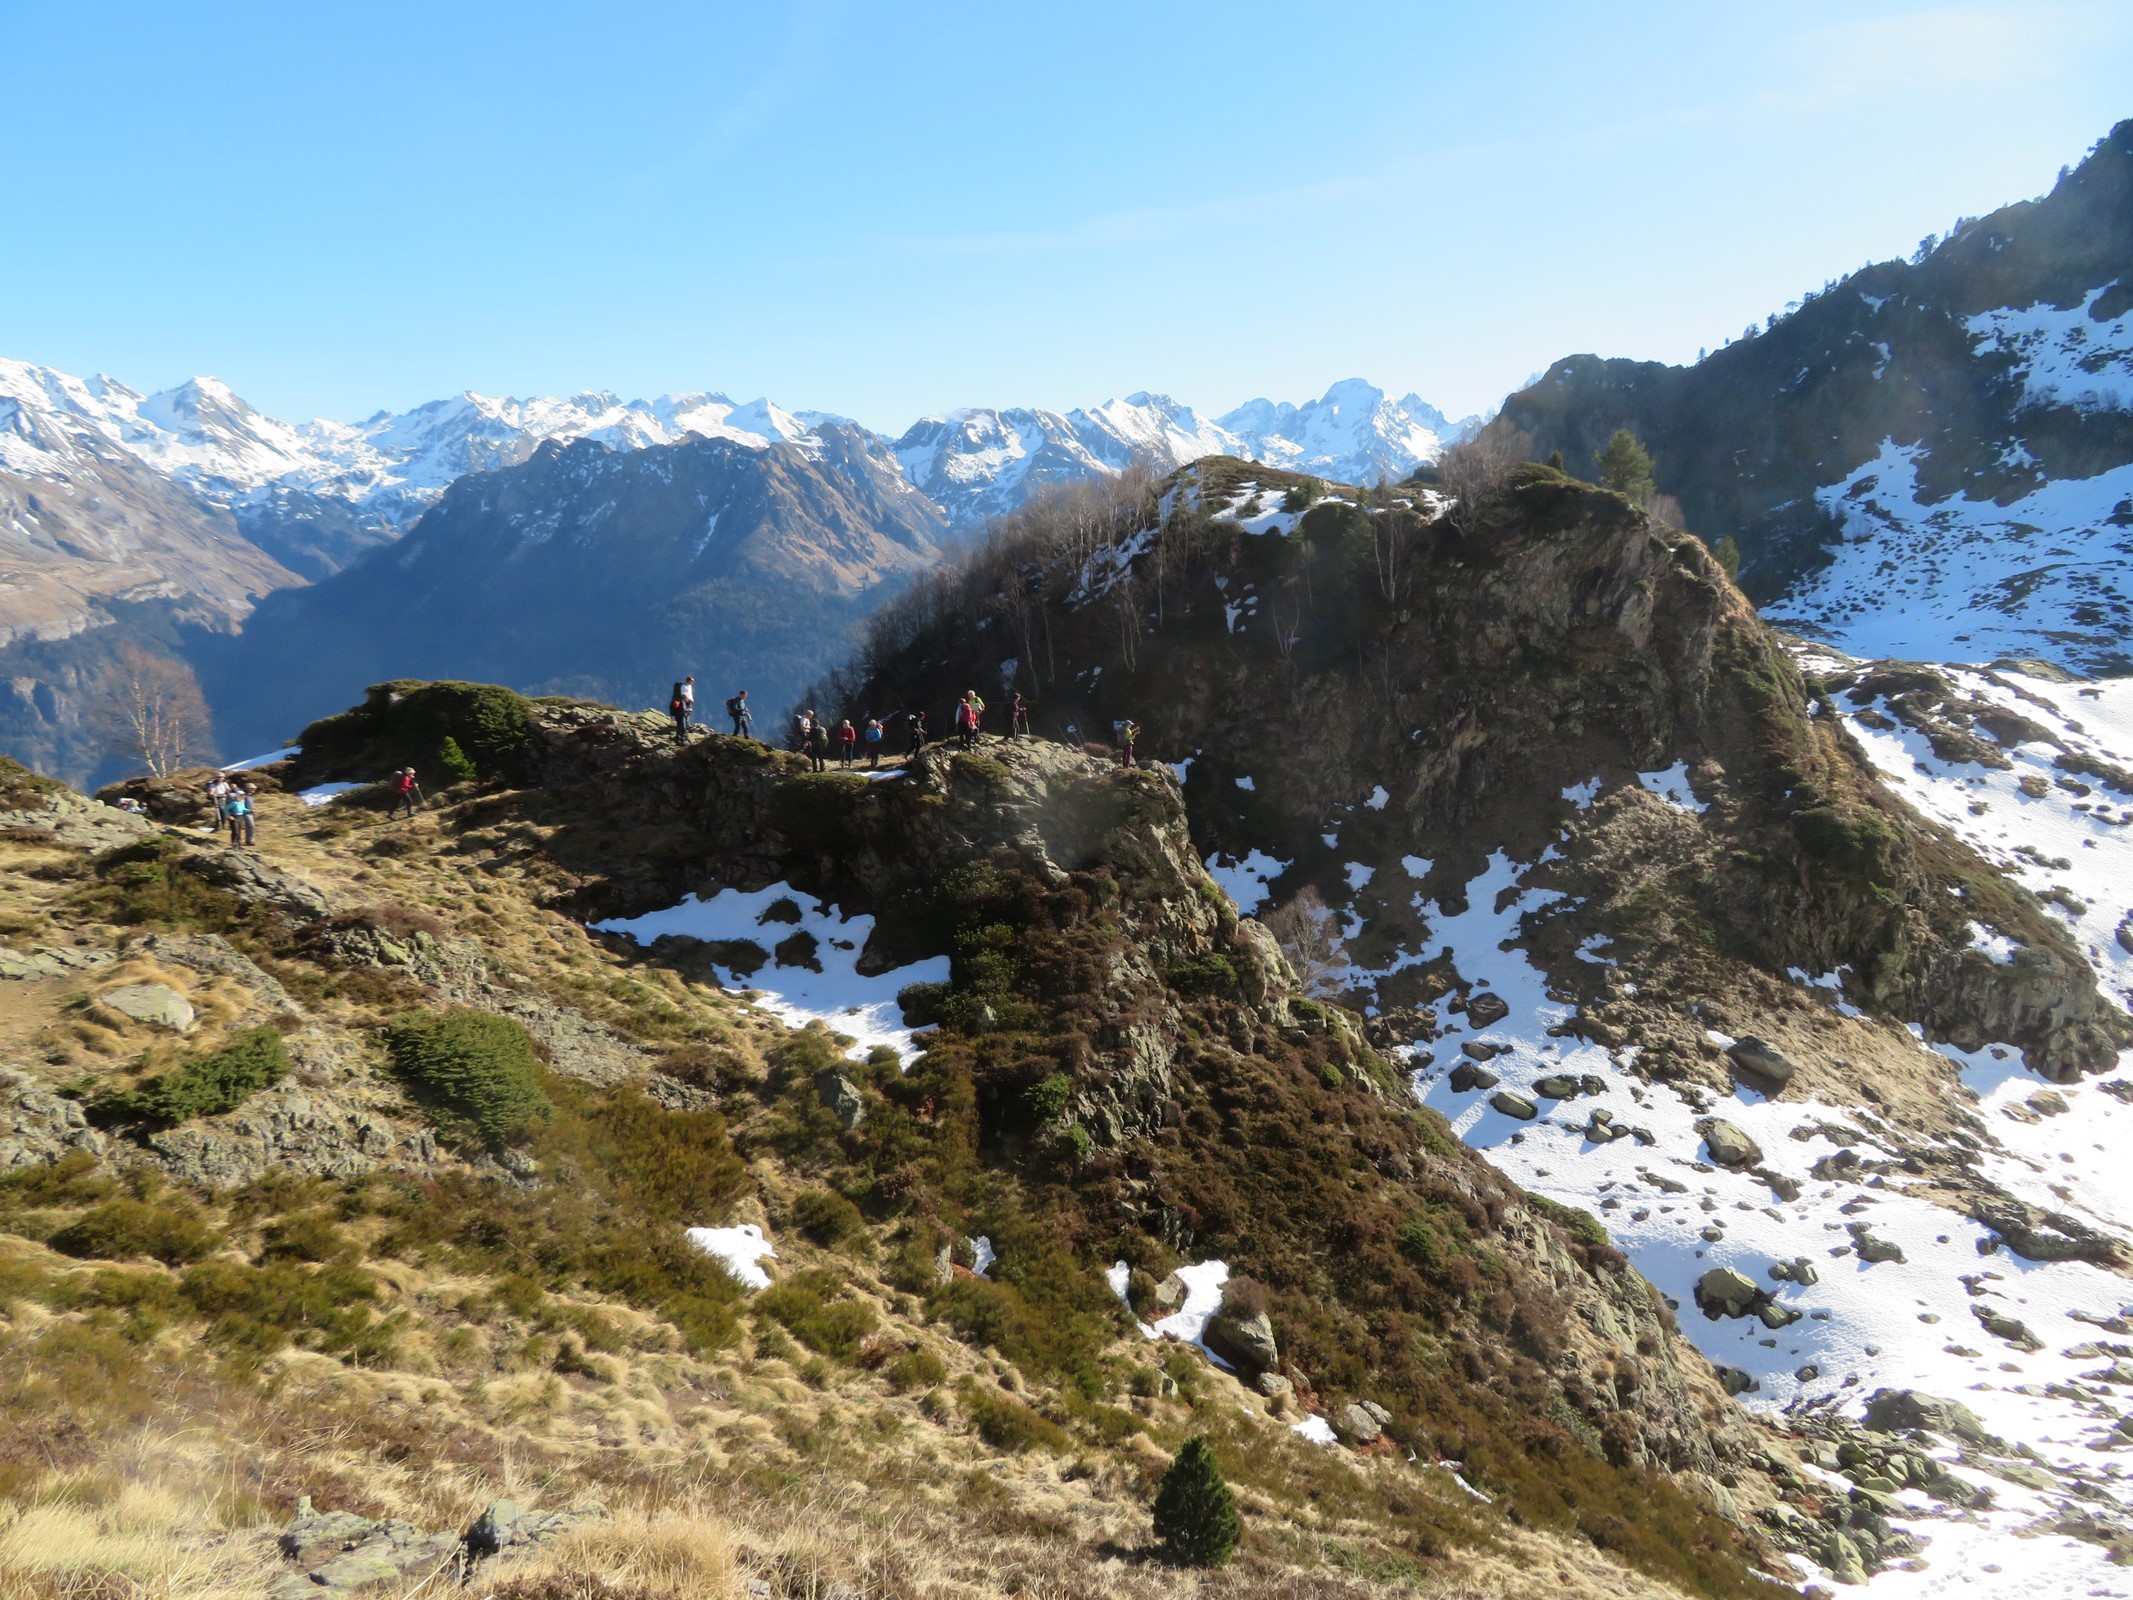
<svg viewBox="0 0 2133 1600"><path fill-rule="evenodd" d="M815 431L830 420L843 418L712 393L655 401L465 393L363 422L282 422L215 378L141 395L111 378L0 358L0 471L68 478L70 467L115 448L220 506L294 491L346 501L390 529L414 523L452 480L516 465L542 439L640 450L700 435L815 450ZM960 410L921 418L883 444L951 523L973 527L1043 484L1111 474L1141 454L1160 467L1246 454L1342 482L1376 482L1414 471L1478 425L1453 422L1416 395L1391 399L1350 378L1305 405L1256 399L1216 420L1139 393L1064 414Z"/></svg>

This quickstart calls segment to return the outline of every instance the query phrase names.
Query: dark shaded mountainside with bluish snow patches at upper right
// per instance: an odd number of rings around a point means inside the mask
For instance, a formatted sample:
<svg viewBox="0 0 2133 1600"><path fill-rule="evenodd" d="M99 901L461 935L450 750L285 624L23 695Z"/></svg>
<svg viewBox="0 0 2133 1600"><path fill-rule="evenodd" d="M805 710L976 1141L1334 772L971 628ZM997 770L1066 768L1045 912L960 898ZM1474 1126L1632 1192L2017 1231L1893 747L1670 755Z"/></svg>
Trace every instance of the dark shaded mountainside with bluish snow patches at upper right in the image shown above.
<svg viewBox="0 0 2133 1600"><path fill-rule="evenodd" d="M1572 356L1502 416L1572 471L1634 429L1749 597L1837 649L2133 670L2133 122L1691 367Z"/></svg>

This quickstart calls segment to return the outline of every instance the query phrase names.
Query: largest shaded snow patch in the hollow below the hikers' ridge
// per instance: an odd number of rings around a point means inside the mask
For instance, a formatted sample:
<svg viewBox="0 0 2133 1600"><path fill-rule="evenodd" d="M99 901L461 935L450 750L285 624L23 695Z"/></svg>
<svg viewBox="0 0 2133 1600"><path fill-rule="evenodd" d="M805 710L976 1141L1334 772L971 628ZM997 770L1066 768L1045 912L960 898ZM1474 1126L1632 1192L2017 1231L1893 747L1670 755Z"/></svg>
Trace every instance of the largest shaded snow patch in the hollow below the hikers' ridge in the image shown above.
<svg viewBox="0 0 2133 1600"><path fill-rule="evenodd" d="M779 902L798 909L798 922L766 919ZM847 1056L860 1058L877 1045L887 1045L909 1065L921 1050L917 1035L904 1026L896 1005L896 990L907 983L945 983L949 958L911 962L896 971L866 977L857 971L860 951L875 930L872 917L843 917L836 907L817 902L811 894L800 894L785 883L766 890L742 892L721 890L708 900L689 896L665 911L646 911L642 917L614 917L595 922L597 932L619 932L642 945L661 934L687 934L689 939L749 941L768 956L774 945L796 932L815 939L815 964L781 966L774 958L761 969L742 977L723 969L723 981L738 990L753 990L755 1005L770 1011L793 1028L808 1022L823 1022L832 1030L851 1037L855 1043Z"/></svg>

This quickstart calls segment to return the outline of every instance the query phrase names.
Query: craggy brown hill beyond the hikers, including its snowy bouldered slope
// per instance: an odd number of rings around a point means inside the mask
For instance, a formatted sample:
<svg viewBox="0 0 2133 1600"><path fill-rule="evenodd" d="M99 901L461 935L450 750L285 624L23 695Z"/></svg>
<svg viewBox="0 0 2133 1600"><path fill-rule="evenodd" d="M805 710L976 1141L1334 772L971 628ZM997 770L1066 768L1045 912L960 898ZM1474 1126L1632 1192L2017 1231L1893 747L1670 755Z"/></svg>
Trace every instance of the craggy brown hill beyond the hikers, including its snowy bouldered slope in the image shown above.
<svg viewBox="0 0 2133 1600"><path fill-rule="evenodd" d="M1994 1517L1913 1504L1905 1538L2099 1572L2124 1412L2063 1318L2124 1325L2133 1212L2065 1118L2101 1133L2133 1094L2122 772L2073 710L2110 687L1787 646L1700 542L1546 467L1416 499L1199 463L1094 548L981 548L819 698L998 685L1043 730L1137 721L1305 992L1499 1171L1595 1212L1747 1404L1971 1391L2050 1466ZM2067 806L2065 843L2022 806ZM2116 887L2078 896L2046 843ZM1843 1538L1817 1562L1871 1568Z"/></svg>

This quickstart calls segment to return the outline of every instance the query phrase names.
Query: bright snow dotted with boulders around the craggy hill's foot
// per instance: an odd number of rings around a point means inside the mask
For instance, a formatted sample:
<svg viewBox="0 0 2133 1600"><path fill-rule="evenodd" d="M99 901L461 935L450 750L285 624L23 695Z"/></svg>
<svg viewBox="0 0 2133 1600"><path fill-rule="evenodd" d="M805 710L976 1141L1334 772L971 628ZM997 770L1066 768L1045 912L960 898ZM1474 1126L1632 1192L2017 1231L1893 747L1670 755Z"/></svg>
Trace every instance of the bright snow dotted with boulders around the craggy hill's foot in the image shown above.
<svg viewBox="0 0 2133 1600"><path fill-rule="evenodd" d="M1834 689L1824 715L1843 719L1881 777L2037 894L2103 992L2133 1001L2133 681L1860 663L1819 646L1802 649L1802 666ZM1589 809L1600 791L1566 800ZM1561 900L1529 883L1551 855L1497 853L1461 911L1423 907L1433 947L1416 958L1448 954L1504 1003L1487 1022L1438 1003L1438 1037L1412 1052L1423 1103L1523 1186L1600 1216L1679 1306L1691 1342L1736 1374L1743 1404L1809 1436L1817 1414L1858 1419L1881 1389L1975 1414L1990 1440L1943 1436L1932 1455L1990 1502L1881 1485L1888 1521L1922 1551L1871 1591L2133 1594L2112 1562L2133 1525L2133 1052L2118 1075L2046 1086L2003 1043L1915 1043L1922 1075L1943 1082L1937 1129L1860 1094L1649 1082L1634 1045L1578 1037L1578 1007L1525 951L1531 919ZM2020 958L1990 928L1977 941L1992 960ZM1583 960L1610 964L1604 943ZM1378 975L1342 977L1367 990ZM1845 973L1792 977L1858 1026ZM1738 1041L1713 1028L1709 1043ZM1751 1141L1747 1158L1721 1146L1726 1129ZM1971 1186L1952 1186L1937 1156ZM2037 1239L2018 1252L1994 1190L2048 1216L2056 1239L2088 1239L2095 1259L2052 1259ZM1753 1284L1749 1314L1702 1310L1717 1269ZM1860 1478L1815 1470L1839 1493Z"/></svg>

